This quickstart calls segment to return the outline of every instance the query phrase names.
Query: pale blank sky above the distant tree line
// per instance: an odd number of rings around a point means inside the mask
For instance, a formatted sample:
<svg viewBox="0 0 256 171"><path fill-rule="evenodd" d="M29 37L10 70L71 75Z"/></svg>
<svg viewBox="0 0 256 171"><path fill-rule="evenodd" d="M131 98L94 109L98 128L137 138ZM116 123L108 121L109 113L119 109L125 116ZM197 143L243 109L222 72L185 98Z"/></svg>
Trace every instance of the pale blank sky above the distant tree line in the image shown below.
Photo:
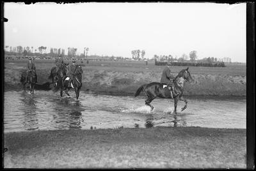
<svg viewBox="0 0 256 171"><path fill-rule="evenodd" d="M4 3L4 45L145 57L196 50L246 62L246 3ZM66 50L67 54L67 50Z"/></svg>

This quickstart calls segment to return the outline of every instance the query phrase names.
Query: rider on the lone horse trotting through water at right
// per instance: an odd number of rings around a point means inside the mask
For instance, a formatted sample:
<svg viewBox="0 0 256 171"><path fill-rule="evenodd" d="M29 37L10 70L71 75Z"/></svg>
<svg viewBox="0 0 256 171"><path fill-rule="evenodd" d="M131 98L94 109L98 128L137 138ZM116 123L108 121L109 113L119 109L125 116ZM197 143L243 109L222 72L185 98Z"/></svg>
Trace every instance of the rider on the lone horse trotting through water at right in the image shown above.
<svg viewBox="0 0 256 171"><path fill-rule="evenodd" d="M179 95L179 93L175 92L173 80L175 77L171 74L171 63L167 63L164 67L162 77L161 77L161 83L166 84L168 89L170 89L171 97L175 97Z"/></svg>

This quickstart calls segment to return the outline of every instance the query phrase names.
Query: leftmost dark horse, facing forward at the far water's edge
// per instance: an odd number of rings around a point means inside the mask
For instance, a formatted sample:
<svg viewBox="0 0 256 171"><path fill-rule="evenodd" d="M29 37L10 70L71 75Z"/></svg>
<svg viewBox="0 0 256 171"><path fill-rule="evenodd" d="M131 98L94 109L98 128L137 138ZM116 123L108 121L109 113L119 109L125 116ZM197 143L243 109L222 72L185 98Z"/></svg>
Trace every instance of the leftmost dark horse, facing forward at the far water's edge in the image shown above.
<svg viewBox="0 0 256 171"><path fill-rule="evenodd" d="M20 82L23 85L23 89L26 92L26 84L29 84L30 93L34 94L35 84L36 84L36 75L33 71L22 72Z"/></svg>

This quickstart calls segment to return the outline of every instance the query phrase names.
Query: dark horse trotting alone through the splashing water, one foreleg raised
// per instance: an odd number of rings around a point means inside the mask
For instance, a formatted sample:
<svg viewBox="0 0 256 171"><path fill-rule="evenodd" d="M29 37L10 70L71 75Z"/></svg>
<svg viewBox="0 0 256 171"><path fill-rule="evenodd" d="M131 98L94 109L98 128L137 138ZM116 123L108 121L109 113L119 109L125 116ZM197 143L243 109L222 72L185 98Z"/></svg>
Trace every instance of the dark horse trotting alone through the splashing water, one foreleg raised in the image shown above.
<svg viewBox="0 0 256 171"><path fill-rule="evenodd" d="M173 80L173 88L177 93L179 93L177 96L173 97L174 98L174 112L177 114L177 103L179 100L182 100L185 102L185 106L181 109L183 111L185 108L187 108L187 103L188 101L182 96L183 91L184 91L184 82L191 82L193 81L193 78L191 77L188 68L181 70L179 74L174 78ZM155 98L172 98L170 94L170 90L168 87L163 88L162 83L160 82L151 82L150 84L144 84L141 85L138 90L135 93L135 97L138 96L141 91L145 91L147 94L148 98L145 101L146 105L151 107L151 110L153 110L153 106L150 105L150 102L154 100Z"/></svg>

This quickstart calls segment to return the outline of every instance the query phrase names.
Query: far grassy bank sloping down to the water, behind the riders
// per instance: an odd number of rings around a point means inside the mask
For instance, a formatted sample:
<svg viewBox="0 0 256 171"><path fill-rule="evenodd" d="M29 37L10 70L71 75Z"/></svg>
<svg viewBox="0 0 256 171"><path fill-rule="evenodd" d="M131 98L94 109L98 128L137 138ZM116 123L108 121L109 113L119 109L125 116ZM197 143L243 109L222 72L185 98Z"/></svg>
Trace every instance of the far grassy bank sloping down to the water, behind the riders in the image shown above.
<svg viewBox="0 0 256 171"><path fill-rule="evenodd" d="M69 61L70 62L70 61ZM80 63L81 64L81 63ZM134 94L142 84L159 82L164 66L138 62L90 62L83 63L82 91L97 93ZM53 61L36 61L38 82L44 84L54 66ZM6 61L4 69L4 88L21 89L20 73L26 68L26 61ZM185 67L186 68L186 67ZM182 66L173 66L177 75ZM246 66L189 67L195 82L185 84L185 95L197 96L246 96Z"/></svg>

